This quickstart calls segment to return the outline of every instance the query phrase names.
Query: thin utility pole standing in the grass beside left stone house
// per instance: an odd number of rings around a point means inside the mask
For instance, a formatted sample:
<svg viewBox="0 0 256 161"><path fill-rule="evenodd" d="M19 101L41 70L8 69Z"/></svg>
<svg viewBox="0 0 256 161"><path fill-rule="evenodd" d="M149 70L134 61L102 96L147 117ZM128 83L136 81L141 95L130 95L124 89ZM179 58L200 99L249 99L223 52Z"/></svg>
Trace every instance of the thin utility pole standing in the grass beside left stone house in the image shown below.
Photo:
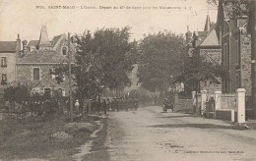
<svg viewBox="0 0 256 161"><path fill-rule="evenodd" d="M72 98L72 75L71 75L71 48L70 48L70 33L68 32L68 66L69 66L69 74L68 74L68 80L69 80L69 105L70 105L70 119L71 122L73 122L73 98Z"/></svg>

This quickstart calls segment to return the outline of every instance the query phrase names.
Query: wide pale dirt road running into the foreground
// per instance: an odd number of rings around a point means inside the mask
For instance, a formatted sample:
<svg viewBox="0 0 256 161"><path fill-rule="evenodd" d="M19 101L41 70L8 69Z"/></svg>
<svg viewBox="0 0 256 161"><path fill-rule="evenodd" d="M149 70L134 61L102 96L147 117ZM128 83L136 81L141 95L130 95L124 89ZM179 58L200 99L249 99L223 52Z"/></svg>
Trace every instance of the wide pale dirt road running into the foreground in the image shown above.
<svg viewBox="0 0 256 161"><path fill-rule="evenodd" d="M159 106L108 115L111 161L256 160L256 131Z"/></svg>

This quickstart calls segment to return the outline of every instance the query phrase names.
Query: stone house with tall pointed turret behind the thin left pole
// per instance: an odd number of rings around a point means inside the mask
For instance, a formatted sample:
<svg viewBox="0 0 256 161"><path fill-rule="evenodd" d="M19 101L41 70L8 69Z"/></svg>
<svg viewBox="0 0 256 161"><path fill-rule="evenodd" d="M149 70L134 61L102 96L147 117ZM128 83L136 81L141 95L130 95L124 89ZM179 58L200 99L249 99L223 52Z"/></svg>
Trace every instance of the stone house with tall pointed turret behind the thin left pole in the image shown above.
<svg viewBox="0 0 256 161"><path fill-rule="evenodd" d="M32 92L52 94L57 91L65 96L68 91L68 78L63 75L63 82L58 83L56 76L50 74L58 64L68 62L68 39L65 34L49 40L47 28L43 26L38 40L32 40L27 45L23 41L24 52L17 61L17 80L32 85ZM74 54L74 47L71 47ZM72 54L72 55L73 55Z"/></svg>

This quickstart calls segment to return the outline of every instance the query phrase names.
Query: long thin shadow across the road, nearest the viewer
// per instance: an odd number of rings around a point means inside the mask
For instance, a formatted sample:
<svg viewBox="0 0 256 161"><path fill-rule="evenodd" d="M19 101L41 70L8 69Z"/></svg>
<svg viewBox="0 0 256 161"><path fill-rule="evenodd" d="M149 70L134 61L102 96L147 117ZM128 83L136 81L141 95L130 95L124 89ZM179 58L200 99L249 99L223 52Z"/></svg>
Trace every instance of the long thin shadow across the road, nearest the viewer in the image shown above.
<svg viewBox="0 0 256 161"><path fill-rule="evenodd" d="M214 124L165 124L165 125L156 125L148 126L152 128L199 128L199 129L220 129L220 130L246 130L243 127L239 126L220 126Z"/></svg>

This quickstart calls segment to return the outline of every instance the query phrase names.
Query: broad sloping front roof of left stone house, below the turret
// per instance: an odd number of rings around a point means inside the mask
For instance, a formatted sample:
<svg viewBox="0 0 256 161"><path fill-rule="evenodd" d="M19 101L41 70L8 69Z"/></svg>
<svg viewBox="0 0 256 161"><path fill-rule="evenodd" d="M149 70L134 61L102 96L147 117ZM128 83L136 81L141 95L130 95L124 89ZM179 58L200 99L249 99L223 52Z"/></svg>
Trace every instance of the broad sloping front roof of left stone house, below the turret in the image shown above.
<svg viewBox="0 0 256 161"><path fill-rule="evenodd" d="M63 63L67 61L65 56L62 56L55 50L34 50L22 59L20 59L18 64L29 63L29 64L40 64L40 63Z"/></svg>

